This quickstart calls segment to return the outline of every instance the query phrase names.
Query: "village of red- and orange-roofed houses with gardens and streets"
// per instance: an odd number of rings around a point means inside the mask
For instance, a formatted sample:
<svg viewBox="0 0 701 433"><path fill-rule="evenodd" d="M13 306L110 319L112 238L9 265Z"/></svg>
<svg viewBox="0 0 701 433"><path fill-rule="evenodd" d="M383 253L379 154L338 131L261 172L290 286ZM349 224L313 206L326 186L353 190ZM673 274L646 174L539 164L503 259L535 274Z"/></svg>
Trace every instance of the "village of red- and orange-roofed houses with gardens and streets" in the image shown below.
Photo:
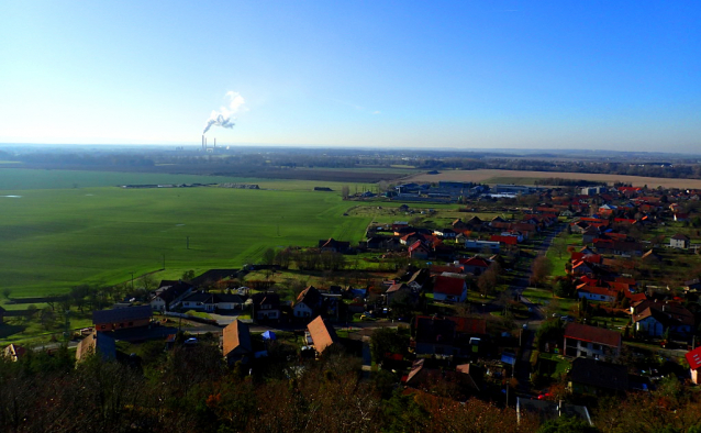
<svg viewBox="0 0 701 433"><path fill-rule="evenodd" d="M215 346L244 375L289 376L344 353L364 380L389 377L403 392L590 426L602 397L694 387L701 192L509 191L443 225L432 204L402 204L359 244L320 240L241 269L163 280L93 311L92 327L71 336L76 360L149 363L140 347ZM387 204L367 199L381 215ZM509 211L477 215L489 206ZM27 352L4 348L13 362Z"/></svg>

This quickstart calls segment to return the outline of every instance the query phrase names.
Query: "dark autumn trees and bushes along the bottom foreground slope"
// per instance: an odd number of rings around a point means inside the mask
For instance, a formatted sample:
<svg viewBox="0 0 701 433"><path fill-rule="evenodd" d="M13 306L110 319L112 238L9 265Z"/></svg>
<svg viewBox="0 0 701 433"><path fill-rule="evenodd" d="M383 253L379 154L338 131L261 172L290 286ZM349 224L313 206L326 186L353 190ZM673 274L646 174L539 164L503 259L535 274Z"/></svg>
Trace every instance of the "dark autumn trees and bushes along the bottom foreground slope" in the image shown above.
<svg viewBox="0 0 701 433"><path fill-rule="evenodd" d="M20 362L0 358L3 432L699 432L701 401L676 379L654 392L600 397L589 426L542 423L513 407L449 388L397 386L389 370L364 377L343 349L301 362L285 345L249 369L222 362L216 338L188 346L144 343L140 355L74 364L60 348ZM182 340L180 340L182 341ZM557 393L552 398L566 398Z"/></svg>

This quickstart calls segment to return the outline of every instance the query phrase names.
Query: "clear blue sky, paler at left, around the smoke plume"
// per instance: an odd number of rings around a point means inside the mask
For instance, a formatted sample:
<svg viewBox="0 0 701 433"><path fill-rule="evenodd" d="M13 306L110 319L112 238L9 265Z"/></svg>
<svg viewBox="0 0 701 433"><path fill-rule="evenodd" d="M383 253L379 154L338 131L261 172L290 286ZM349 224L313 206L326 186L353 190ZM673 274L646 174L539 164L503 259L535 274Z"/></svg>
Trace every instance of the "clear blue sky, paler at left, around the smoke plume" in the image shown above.
<svg viewBox="0 0 701 433"><path fill-rule="evenodd" d="M698 152L701 3L0 4L0 143L197 145L222 107L222 144Z"/></svg>

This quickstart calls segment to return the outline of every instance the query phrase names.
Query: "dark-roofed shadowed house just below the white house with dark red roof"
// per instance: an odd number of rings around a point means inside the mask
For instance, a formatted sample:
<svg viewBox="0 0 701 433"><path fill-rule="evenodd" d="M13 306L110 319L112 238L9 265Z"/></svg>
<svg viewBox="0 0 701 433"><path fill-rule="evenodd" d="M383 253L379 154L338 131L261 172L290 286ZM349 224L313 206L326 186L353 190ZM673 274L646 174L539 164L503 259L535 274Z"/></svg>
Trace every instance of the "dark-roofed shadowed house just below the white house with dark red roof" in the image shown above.
<svg viewBox="0 0 701 433"><path fill-rule="evenodd" d="M577 395L611 395L628 390L628 370L625 365L599 359L577 358L569 371L569 389Z"/></svg>

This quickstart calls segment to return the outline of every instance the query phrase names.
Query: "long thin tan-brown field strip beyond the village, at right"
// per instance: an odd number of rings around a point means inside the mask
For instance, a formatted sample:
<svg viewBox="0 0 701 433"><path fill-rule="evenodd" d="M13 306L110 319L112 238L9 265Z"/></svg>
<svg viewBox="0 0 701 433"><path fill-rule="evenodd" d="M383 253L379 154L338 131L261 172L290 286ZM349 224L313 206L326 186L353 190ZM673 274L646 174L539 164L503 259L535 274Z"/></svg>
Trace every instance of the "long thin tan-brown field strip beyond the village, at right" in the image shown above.
<svg viewBox="0 0 701 433"><path fill-rule="evenodd" d="M561 173L561 171L521 171L521 170L449 170L441 171L437 175L416 175L407 178L405 181L414 182L437 182L444 181L464 181L464 182L482 182L482 184L502 184L508 179L519 179L521 182L536 179L546 179L557 177L563 179L593 180L607 184L616 181L632 184L636 187L647 185L649 188L683 188L697 189L701 188L701 179L668 179L660 177L643 177L643 176L624 176L624 175L607 175L592 173Z"/></svg>

